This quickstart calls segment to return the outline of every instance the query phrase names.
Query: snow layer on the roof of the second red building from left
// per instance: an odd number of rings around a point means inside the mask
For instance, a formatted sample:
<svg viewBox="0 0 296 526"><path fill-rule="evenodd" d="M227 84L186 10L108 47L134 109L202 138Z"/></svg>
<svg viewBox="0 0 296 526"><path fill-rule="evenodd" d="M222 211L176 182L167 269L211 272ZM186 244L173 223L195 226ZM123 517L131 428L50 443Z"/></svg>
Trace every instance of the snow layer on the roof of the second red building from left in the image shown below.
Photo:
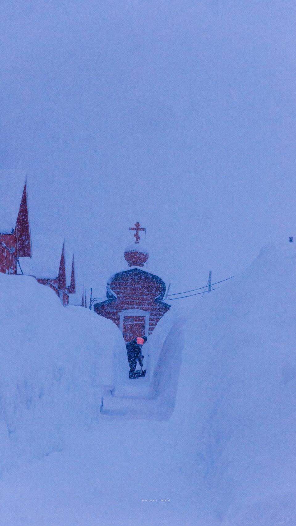
<svg viewBox="0 0 296 526"><path fill-rule="evenodd" d="M19 258L24 274L36 278L56 278L60 268L63 243L62 236L32 236L32 258ZM68 265L66 272L67 270ZM21 274L19 269L18 274Z"/></svg>

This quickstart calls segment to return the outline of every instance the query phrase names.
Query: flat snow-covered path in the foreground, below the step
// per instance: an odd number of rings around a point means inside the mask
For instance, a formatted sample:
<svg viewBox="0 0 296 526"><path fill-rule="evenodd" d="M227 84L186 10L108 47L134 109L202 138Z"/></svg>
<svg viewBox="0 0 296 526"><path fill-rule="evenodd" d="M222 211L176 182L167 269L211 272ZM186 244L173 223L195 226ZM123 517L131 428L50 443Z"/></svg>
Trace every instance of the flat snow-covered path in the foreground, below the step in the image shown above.
<svg viewBox="0 0 296 526"><path fill-rule="evenodd" d="M69 432L62 452L4 474L0 524L196 526L195 491L173 469L169 427L102 417L91 431Z"/></svg>

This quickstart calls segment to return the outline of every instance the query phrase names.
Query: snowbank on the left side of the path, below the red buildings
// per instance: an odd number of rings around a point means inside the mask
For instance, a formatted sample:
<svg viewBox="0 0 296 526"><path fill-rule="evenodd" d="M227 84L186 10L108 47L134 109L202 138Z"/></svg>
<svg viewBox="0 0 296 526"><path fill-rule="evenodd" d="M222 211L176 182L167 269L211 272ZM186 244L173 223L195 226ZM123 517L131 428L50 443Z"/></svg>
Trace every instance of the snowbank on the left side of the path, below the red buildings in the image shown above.
<svg viewBox="0 0 296 526"><path fill-rule="evenodd" d="M63 448L63 429L90 427L102 383L114 382L124 346L110 320L63 307L27 276L0 273L0 473L14 454L40 458Z"/></svg>

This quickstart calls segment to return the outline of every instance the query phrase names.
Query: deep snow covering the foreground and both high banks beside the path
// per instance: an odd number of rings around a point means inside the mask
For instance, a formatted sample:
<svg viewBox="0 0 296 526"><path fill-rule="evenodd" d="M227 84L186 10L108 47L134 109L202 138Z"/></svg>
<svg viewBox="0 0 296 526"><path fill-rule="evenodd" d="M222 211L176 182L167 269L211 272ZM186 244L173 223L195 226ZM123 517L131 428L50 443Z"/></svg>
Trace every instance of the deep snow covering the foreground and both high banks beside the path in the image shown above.
<svg viewBox="0 0 296 526"><path fill-rule="evenodd" d="M153 353L154 339L154 363L170 348L179 360L172 335L183 331L174 411L130 420L99 412L124 350L116 326L63 308L32 278L0 275L0 523L294 525L295 290L293 247L268 246L184 329L182 316L164 317L145 345ZM176 365L165 360L164 379ZM165 397L166 380L157 386Z"/></svg>

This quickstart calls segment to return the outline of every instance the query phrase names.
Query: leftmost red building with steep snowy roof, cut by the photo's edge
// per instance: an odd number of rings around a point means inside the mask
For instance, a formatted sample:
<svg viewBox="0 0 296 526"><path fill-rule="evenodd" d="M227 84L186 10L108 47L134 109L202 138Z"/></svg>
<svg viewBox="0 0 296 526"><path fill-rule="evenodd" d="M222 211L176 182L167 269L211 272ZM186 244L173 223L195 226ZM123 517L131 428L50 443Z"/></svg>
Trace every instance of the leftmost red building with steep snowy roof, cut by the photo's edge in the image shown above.
<svg viewBox="0 0 296 526"><path fill-rule="evenodd" d="M18 257L31 256L26 173L0 170L0 272L16 274Z"/></svg>

